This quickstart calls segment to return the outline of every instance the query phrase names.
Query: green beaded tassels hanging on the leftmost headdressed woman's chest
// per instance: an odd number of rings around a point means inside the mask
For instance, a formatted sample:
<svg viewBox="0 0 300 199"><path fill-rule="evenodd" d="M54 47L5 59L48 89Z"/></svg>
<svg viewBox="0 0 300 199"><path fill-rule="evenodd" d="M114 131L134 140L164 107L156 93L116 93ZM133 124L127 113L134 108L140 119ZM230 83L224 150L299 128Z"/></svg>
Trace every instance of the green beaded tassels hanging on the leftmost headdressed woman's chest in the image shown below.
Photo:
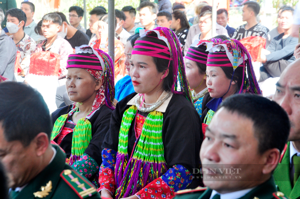
<svg viewBox="0 0 300 199"><path fill-rule="evenodd" d="M64 123L67 121L67 118L75 112L76 109L70 111L69 114L64 114L58 117L55 121L53 130L51 133L51 140L57 138L61 132ZM71 156L69 160L69 165L72 165L73 162L80 159L80 156L84 153L85 149L88 147L92 138L91 132L91 122L86 118L81 118L78 120L76 126L73 130L72 137L72 147L71 147Z"/></svg>

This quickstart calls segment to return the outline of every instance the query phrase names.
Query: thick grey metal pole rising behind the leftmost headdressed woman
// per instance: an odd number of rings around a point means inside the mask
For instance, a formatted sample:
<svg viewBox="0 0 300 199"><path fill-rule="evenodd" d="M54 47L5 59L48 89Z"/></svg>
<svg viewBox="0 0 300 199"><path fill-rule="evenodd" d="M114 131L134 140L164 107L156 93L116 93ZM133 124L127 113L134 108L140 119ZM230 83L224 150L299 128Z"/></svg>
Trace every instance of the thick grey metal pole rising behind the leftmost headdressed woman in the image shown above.
<svg viewBox="0 0 300 199"><path fill-rule="evenodd" d="M108 55L115 63L115 0L108 1Z"/></svg>

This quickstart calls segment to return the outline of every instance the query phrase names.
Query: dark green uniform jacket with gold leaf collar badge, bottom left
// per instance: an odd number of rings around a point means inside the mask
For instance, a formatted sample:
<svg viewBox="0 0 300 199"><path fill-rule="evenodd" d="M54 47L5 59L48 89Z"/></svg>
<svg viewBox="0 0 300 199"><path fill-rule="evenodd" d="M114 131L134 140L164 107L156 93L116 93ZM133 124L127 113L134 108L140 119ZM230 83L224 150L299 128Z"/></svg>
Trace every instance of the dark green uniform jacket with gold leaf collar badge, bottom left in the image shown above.
<svg viewBox="0 0 300 199"><path fill-rule="evenodd" d="M52 162L10 199L95 199L100 198L89 181L65 163L66 155L58 148ZM12 191L11 191L12 192Z"/></svg>

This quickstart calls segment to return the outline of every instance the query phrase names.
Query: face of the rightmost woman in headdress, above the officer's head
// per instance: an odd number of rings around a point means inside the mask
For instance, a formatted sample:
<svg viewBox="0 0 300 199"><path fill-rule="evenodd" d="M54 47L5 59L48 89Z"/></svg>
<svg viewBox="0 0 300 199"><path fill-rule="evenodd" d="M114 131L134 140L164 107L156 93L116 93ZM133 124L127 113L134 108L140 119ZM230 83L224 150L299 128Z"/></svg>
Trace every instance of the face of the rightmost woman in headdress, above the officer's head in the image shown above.
<svg viewBox="0 0 300 199"><path fill-rule="evenodd" d="M206 66L206 75L206 85L210 97L223 97L227 93L229 85L235 84L235 82L231 82L231 79L226 77L224 71L220 67ZM234 89L232 85L230 86L230 90ZM228 92L227 94L230 93L231 92Z"/></svg>

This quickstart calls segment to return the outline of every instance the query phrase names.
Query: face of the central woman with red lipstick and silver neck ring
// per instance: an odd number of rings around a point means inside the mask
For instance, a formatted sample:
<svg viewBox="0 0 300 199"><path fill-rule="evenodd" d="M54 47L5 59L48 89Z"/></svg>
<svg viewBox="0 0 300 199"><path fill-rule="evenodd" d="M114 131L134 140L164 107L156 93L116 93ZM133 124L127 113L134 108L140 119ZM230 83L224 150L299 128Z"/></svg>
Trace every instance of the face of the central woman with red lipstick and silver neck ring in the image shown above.
<svg viewBox="0 0 300 199"><path fill-rule="evenodd" d="M164 72L158 72L151 56L131 55L130 65L130 76L135 92L154 94L162 89L164 81L161 79L163 79ZM168 73L166 73L167 76Z"/></svg>

